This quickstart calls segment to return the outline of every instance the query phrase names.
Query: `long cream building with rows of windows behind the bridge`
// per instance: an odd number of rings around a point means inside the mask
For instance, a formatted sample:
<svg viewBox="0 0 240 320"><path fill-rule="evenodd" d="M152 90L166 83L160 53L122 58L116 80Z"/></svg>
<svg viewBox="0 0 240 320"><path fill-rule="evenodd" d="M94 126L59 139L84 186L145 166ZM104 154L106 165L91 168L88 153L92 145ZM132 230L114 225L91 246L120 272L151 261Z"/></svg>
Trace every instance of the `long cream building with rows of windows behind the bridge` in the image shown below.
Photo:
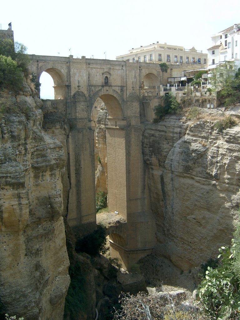
<svg viewBox="0 0 240 320"><path fill-rule="evenodd" d="M129 53L117 56L116 60L129 62L166 62L170 64L206 64L207 53L170 44L153 43L140 48L132 48Z"/></svg>

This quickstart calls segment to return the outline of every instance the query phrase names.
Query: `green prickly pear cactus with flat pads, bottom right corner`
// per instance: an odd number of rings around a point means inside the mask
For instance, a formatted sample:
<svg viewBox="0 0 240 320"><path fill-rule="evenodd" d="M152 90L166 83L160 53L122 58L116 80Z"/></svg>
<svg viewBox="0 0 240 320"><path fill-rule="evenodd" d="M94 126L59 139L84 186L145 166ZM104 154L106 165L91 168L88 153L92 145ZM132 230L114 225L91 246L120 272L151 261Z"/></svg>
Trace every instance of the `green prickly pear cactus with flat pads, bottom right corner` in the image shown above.
<svg viewBox="0 0 240 320"><path fill-rule="evenodd" d="M235 248L221 247L219 251L221 264L215 269L208 267L198 287L198 296L212 319L231 319L240 316L239 278L233 271Z"/></svg>

